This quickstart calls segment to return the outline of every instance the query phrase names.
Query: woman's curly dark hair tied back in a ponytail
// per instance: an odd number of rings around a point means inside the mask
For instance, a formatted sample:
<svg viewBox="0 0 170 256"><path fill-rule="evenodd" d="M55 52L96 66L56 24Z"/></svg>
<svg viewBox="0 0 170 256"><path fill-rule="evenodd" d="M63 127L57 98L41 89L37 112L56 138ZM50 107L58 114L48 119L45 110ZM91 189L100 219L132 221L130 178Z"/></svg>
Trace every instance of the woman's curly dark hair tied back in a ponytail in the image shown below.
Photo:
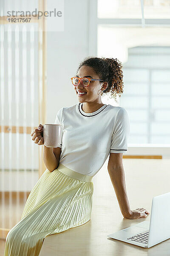
<svg viewBox="0 0 170 256"><path fill-rule="evenodd" d="M92 67L100 79L108 82L108 87L103 93L108 94L111 92L111 98L114 97L116 101L116 94L123 93L124 87L121 62L117 58L97 58L89 56L80 62L77 72L80 67L84 65ZM120 96L119 94L119 97Z"/></svg>

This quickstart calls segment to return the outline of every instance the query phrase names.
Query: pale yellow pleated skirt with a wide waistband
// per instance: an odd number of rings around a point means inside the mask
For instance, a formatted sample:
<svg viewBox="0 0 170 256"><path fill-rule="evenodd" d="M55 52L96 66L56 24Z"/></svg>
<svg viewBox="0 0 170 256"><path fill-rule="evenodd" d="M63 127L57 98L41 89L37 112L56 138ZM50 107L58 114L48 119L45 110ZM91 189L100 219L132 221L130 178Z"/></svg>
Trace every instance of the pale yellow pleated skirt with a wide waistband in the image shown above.
<svg viewBox="0 0 170 256"><path fill-rule="evenodd" d="M38 256L46 236L91 219L93 176L59 163L42 174L29 194L21 220L8 232L4 256Z"/></svg>

